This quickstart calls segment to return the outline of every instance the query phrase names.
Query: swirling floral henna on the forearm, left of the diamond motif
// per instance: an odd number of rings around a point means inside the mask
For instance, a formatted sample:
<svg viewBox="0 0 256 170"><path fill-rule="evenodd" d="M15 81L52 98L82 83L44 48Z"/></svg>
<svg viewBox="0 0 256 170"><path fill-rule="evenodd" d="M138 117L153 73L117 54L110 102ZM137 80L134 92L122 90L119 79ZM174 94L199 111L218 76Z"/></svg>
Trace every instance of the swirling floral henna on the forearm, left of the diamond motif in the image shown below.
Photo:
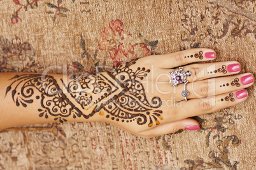
<svg viewBox="0 0 256 170"><path fill-rule="evenodd" d="M17 106L20 104L27 107L27 104L33 103L34 100L39 100L41 108L38 108L39 117L48 118L48 114L52 115L55 121L67 121L65 118L69 115L73 117L81 117L83 113L73 105L67 96L59 88L56 80L50 75L41 74L24 74L15 75L11 80L14 80L6 89L6 95L11 90L11 97ZM20 91L17 91L18 87ZM41 95L34 95L34 91L39 91Z"/></svg>

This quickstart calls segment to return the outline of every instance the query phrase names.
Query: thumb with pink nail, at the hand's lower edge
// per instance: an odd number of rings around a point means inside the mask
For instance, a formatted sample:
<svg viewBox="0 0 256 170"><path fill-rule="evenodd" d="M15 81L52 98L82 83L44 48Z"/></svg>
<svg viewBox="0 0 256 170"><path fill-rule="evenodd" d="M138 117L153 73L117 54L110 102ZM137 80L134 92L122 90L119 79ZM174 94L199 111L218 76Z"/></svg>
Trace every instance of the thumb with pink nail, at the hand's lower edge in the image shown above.
<svg viewBox="0 0 256 170"><path fill-rule="evenodd" d="M163 134L176 133L181 130L199 130L199 123L192 118L183 119L181 121L171 122L167 124L162 124L153 129L149 129L138 133L139 136L144 138L152 138L154 136L160 136Z"/></svg>

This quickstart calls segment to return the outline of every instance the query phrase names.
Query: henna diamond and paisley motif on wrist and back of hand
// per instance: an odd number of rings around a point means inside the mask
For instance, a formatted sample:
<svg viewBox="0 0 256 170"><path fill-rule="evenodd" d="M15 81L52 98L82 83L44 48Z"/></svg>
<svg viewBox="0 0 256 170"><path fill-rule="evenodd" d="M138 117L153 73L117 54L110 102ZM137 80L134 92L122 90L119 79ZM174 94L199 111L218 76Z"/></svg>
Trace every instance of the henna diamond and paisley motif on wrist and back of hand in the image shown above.
<svg viewBox="0 0 256 170"><path fill-rule="evenodd" d="M108 113L106 118L111 120L136 120L139 125L146 124L149 120L148 127L153 125L153 121L158 125L159 119L163 119L160 115L162 111L156 110L160 107L161 100L159 97L153 97L150 102L146 99L145 89L139 81L143 80L150 70L146 70L145 67L138 67L135 72L129 69L135 61L125 63L124 67L120 65L106 71L111 80L102 73L71 77L66 89L83 109L94 107L87 115L89 117L103 109ZM92 100L91 96L95 99Z"/></svg>

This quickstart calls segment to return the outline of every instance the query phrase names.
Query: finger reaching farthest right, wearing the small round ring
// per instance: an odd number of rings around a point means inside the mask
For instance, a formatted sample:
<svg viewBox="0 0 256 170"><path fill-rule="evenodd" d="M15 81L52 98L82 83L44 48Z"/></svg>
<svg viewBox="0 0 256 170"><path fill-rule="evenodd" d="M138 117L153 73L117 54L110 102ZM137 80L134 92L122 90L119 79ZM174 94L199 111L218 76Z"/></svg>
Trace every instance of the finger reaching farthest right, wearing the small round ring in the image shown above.
<svg viewBox="0 0 256 170"><path fill-rule="evenodd" d="M253 82L254 77L250 73L188 82L186 85L186 90L189 93L187 98L204 98L229 93L231 91L248 88L249 86L252 86ZM178 84L176 88L173 88L171 84L158 83L156 89L162 94L169 92L169 95L164 96L163 99L170 98L170 95L177 101L185 99L181 96L181 92L184 90L184 84Z"/></svg>

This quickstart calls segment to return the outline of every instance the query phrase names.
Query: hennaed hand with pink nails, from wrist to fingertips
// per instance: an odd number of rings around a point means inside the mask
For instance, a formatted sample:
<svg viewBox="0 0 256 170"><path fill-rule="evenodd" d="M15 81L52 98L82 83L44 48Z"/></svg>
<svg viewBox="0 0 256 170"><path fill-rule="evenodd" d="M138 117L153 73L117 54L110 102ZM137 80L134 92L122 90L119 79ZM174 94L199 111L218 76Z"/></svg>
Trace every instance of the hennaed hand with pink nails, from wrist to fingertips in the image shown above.
<svg viewBox="0 0 256 170"><path fill-rule="evenodd" d="M194 63L211 61L215 56L212 49L188 49L132 60L108 72L115 79L118 93L113 93L103 104L106 111L106 114L100 112L103 121L145 138L179 129L199 129L199 123L189 117L245 101L245 88L254 81L250 73L238 74L241 70L238 62ZM178 71L180 66L184 72L191 72L185 86L188 101L181 96L184 83L177 87L173 82L169 84L169 72ZM183 77L177 79L182 81Z"/></svg>

